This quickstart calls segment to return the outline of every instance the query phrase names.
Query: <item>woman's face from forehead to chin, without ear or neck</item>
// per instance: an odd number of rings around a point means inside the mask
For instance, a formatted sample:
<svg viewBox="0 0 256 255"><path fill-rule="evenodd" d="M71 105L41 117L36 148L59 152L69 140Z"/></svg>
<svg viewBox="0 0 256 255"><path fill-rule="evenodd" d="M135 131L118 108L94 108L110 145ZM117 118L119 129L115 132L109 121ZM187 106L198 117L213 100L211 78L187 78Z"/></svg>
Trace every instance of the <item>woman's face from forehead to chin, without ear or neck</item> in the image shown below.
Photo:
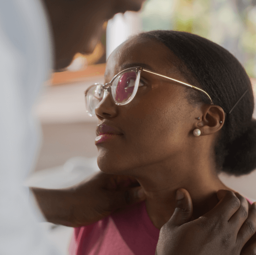
<svg viewBox="0 0 256 255"><path fill-rule="evenodd" d="M177 57L165 45L135 37L110 55L105 82L110 82L120 71L136 66L187 82L175 67L175 61ZM130 103L117 106L108 94L95 112L99 124L106 124L121 134L95 142L99 168L105 173L132 175L140 167L184 153L197 117L195 108L187 102L187 89L190 88L142 72L138 92ZM102 130L105 128L100 126Z"/></svg>

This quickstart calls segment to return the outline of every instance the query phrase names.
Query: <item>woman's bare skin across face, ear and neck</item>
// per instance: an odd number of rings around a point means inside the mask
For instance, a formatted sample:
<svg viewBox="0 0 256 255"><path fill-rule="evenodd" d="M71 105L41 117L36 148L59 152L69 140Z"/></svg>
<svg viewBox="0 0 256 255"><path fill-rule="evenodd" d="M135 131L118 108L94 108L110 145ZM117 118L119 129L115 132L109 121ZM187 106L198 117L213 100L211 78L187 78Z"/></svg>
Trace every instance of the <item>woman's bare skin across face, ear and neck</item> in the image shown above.
<svg viewBox="0 0 256 255"><path fill-rule="evenodd" d="M165 45L133 37L110 55L105 82L128 66L144 64L156 73L187 82L175 63L177 57ZM217 190L229 189L217 176L214 157L224 111L215 105L192 106L186 98L191 88L170 80L142 72L141 82L144 86L129 104L117 106L108 95L96 107L99 124L122 131L97 143L98 166L105 173L138 180L146 193L150 219L160 229L173 214L178 188L191 195L193 218L217 204ZM201 130L199 137L193 135L195 128Z"/></svg>

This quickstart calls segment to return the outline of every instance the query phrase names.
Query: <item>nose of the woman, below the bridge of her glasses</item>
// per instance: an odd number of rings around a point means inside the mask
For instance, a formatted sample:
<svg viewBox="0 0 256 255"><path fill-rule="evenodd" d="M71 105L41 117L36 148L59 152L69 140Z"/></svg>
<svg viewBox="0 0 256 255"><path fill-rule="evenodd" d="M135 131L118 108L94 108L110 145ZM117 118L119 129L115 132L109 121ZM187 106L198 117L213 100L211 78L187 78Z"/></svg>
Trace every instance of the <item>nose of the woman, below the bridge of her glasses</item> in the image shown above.
<svg viewBox="0 0 256 255"><path fill-rule="evenodd" d="M109 92L106 97L96 106L95 113L100 120L116 117L117 105L111 99Z"/></svg>

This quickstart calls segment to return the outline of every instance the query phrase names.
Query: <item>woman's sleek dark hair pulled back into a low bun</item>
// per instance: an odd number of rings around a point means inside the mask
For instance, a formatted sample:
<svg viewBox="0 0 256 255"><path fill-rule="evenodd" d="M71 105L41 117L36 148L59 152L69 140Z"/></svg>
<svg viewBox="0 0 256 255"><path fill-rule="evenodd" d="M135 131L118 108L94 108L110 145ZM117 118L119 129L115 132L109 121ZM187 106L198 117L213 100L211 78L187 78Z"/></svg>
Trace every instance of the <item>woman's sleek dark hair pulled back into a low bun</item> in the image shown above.
<svg viewBox="0 0 256 255"><path fill-rule="evenodd" d="M220 45L192 33L158 30L141 33L140 37L156 39L168 47L179 59L179 71L191 84L205 90L226 113L215 145L219 171L239 176L256 169L254 97L250 79L239 61ZM192 91L188 93L189 102L209 104L203 93Z"/></svg>

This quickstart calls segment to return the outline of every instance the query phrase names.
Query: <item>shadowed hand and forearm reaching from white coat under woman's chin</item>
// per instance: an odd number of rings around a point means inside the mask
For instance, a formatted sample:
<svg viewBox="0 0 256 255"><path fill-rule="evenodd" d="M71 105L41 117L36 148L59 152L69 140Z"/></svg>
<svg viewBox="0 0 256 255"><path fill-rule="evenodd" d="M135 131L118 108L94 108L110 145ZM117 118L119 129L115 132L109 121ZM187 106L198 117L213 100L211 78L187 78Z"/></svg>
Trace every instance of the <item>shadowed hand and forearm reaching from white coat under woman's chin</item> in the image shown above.
<svg viewBox="0 0 256 255"><path fill-rule="evenodd" d="M102 172L71 188L30 190L48 222L69 227L97 222L146 198L133 177Z"/></svg>

